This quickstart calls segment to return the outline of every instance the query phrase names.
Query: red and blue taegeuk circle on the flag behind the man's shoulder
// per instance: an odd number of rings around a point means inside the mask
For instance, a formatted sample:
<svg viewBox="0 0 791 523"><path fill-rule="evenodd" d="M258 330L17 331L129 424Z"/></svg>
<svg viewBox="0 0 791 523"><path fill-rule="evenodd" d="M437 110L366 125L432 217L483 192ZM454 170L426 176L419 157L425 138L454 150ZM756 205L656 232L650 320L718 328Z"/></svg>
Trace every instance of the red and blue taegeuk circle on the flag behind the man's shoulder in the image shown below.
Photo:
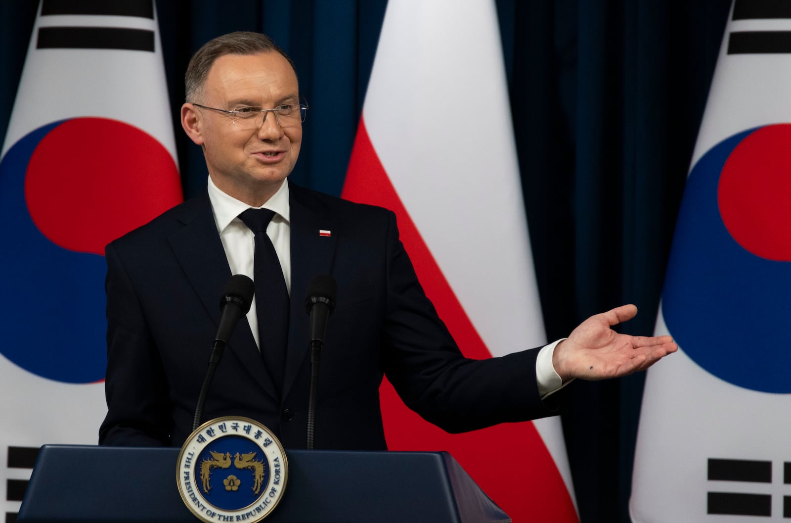
<svg viewBox="0 0 791 523"><path fill-rule="evenodd" d="M0 161L2 353L67 383L104 379L104 246L182 199L176 163L128 123L74 118Z"/></svg>

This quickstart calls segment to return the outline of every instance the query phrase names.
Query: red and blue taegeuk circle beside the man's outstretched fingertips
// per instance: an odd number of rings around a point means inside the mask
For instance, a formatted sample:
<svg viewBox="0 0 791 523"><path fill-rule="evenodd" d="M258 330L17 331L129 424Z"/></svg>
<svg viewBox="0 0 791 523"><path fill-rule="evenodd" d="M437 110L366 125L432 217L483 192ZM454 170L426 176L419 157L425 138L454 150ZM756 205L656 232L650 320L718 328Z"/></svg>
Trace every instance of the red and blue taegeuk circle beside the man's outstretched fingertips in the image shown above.
<svg viewBox="0 0 791 523"><path fill-rule="evenodd" d="M662 314L707 372L755 391L791 392L791 124L740 132L694 165Z"/></svg>

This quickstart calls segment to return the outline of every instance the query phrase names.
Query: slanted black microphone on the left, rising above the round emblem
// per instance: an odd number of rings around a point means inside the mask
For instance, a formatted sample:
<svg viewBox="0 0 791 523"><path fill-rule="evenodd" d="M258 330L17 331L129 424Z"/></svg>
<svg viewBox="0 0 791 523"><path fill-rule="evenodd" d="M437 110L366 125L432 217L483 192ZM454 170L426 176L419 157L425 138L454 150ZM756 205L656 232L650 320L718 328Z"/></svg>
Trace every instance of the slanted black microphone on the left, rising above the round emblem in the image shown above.
<svg viewBox="0 0 791 523"><path fill-rule="evenodd" d="M203 415L203 406L206 404L206 394L209 392L209 385L214 378L214 371L220 364L225 346L228 339L233 334L233 329L242 316L248 313L252 304L252 297L255 294L255 283L245 275L233 275L225 283L225 292L220 298L220 326L217 335L214 336L214 344L209 355L209 369L206 370L206 377L203 378L203 385L198 395L198 404L195 405L195 418L192 419L192 430L200 425Z"/></svg>

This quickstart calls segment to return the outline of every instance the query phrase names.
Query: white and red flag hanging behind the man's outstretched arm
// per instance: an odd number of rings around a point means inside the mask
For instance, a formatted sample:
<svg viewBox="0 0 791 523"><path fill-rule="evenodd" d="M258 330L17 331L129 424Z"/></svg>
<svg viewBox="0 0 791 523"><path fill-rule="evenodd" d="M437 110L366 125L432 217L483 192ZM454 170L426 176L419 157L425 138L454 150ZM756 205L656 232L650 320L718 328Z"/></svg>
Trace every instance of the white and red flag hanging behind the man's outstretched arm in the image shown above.
<svg viewBox="0 0 791 523"><path fill-rule="evenodd" d="M395 211L465 355L546 342L494 2L388 2L343 197ZM450 451L513 521L577 521L559 419L450 435L381 392L390 449Z"/></svg>

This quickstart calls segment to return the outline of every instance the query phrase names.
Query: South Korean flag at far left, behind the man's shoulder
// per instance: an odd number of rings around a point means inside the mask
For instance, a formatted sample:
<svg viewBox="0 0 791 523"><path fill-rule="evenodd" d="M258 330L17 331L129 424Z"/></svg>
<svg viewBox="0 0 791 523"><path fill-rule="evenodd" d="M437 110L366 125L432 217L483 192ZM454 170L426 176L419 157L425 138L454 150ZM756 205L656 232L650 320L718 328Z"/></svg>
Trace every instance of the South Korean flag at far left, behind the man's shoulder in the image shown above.
<svg viewBox="0 0 791 523"><path fill-rule="evenodd" d="M155 9L39 6L0 154L0 514L107 407L104 245L181 200Z"/></svg>

